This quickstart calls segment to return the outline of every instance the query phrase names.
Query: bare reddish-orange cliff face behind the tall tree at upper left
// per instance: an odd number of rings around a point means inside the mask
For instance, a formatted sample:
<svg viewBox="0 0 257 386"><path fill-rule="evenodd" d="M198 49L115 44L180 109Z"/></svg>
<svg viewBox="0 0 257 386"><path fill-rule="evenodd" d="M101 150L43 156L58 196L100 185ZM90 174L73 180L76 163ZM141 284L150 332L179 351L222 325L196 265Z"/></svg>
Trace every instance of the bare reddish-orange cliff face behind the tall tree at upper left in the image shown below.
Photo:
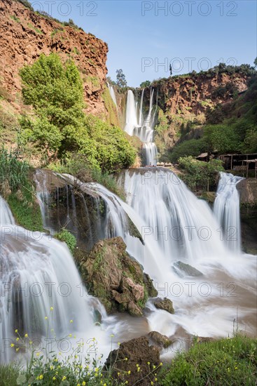
<svg viewBox="0 0 257 386"><path fill-rule="evenodd" d="M63 61L72 58L81 72L88 113L106 118L105 91L108 46L82 29L64 26L25 8L15 0L0 0L1 88L17 112L21 79L19 69L32 64L41 53L58 53Z"/></svg>

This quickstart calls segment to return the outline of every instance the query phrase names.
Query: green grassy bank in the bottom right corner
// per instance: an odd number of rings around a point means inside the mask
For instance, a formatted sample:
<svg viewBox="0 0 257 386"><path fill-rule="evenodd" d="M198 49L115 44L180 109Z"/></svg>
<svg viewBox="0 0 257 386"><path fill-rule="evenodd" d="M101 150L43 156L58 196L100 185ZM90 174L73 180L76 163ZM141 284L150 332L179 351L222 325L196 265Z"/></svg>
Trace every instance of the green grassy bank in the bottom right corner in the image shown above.
<svg viewBox="0 0 257 386"><path fill-rule="evenodd" d="M162 386L253 386L257 377L257 340L235 338L197 343L159 374Z"/></svg>

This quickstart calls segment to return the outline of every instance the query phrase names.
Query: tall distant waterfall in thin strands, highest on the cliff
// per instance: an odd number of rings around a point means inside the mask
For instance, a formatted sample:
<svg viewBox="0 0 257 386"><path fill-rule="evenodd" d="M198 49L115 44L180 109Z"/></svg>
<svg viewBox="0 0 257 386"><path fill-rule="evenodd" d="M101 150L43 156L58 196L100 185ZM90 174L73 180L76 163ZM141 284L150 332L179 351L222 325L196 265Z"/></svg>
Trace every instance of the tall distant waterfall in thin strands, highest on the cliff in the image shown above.
<svg viewBox="0 0 257 386"><path fill-rule="evenodd" d="M134 98L134 93L129 90L127 92L127 107L126 107L126 124L124 130L129 135L137 135L144 142L143 155L145 165L156 165L157 163L157 148L153 142L154 124L156 107L153 105L154 90L150 91L150 104L148 114L144 118L143 102L144 90L141 93L141 100L138 109L138 103Z"/></svg>

